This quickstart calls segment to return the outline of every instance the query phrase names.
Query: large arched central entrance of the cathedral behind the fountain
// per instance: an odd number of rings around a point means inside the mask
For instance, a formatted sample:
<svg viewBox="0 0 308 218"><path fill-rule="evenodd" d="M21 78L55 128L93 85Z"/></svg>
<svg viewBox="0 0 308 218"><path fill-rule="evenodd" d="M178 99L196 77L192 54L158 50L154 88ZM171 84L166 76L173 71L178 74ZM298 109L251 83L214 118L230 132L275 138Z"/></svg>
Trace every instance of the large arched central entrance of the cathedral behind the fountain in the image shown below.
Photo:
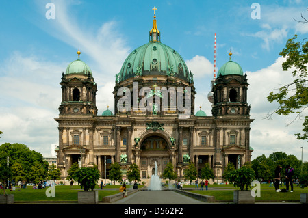
<svg viewBox="0 0 308 218"><path fill-rule="evenodd" d="M166 136L159 133L149 133L142 137L140 142L140 173L142 178L151 178L155 174L162 176L167 163L170 161L170 145Z"/></svg>

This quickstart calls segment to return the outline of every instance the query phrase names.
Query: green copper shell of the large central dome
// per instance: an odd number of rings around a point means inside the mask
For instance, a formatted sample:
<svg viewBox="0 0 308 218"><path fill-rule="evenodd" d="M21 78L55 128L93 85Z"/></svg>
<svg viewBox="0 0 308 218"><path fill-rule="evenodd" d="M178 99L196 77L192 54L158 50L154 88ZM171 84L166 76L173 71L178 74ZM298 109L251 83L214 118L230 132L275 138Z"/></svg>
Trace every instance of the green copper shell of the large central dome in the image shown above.
<svg viewBox="0 0 308 218"><path fill-rule="evenodd" d="M173 75L189 81L188 68L179 53L161 42L150 41L133 50L120 70L119 81L136 75L161 76Z"/></svg>

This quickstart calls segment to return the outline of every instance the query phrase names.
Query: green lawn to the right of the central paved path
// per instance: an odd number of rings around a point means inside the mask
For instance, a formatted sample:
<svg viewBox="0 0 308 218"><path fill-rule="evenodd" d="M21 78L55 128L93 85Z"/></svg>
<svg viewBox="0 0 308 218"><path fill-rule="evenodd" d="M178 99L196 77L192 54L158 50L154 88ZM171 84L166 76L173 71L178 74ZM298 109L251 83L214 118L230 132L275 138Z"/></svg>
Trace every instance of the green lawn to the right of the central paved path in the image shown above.
<svg viewBox="0 0 308 218"><path fill-rule="evenodd" d="M187 185L186 187L193 187L194 185ZM211 188L216 188L216 190L208 190L208 191L200 191L193 190L193 193L199 193L202 195L210 195L214 196L218 201L233 201L233 185L209 185ZM183 186L185 188L185 186ZM199 185L200 189L200 185ZM204 188L205 189L205 188ZM222 189L222 190L219 190ZM230 189L230 190L224 190ZM281 189L285 189L285 186L281 187ZM300 187L296 187L294 185L294 192L276 192L274 187L269 187L268 184L261 184L260 197L255 197L256 201L292 201L292 200L300 200L300 193L308 193L308 189L301 189Z"/></svg>

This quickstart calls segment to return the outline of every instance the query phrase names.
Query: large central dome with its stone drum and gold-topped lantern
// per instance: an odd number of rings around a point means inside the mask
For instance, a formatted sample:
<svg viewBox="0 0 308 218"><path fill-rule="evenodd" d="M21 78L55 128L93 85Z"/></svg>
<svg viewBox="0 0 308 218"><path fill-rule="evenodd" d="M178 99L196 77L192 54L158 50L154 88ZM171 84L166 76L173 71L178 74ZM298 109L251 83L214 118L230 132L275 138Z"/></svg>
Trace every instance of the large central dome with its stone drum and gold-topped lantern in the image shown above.
<svg viewBox="0 0 308 218"><path fill-rule="evenodd" d="M194 115L196 91L193 74L188 71L181 55L163 44L160 36L154 16L149 42L134 49L116 74L113 92L115 115L127 112L135 115L187 115L188 104L189 116ZM185 109L177 102L180 92ZM153 99L149 100L152 96Z"/></svg>

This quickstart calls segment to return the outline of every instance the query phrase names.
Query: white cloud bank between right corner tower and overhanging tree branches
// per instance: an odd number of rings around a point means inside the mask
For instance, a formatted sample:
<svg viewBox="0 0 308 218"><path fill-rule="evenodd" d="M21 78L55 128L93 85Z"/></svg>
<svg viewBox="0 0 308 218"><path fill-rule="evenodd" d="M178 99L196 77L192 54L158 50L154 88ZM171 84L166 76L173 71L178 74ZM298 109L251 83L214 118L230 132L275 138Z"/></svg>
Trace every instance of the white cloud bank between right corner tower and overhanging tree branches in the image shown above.
<svg viewBox="0 0 308 218"><path fill-rule="evenodd" d="M253 159L261 154L268 156L277 151L294 154L300 159L298 149L306 144L305 141L299 141L294 136L294 133L300 133L303 128L300 120L290 124L296 115L287 117L272 115L272 119L265 119L268 113L274 112L279 106L277 103L268 102L268 94L272 91L277 92L281 84L294 80L291 70L288 72L282 70L281 64L284 61L283 57L279 57L267 68L246 72L250 84L248 104L251 104L251 118L255 119L251 124L251 146L255 149ZM287 126L287 124L290 125Z"/></svg>

